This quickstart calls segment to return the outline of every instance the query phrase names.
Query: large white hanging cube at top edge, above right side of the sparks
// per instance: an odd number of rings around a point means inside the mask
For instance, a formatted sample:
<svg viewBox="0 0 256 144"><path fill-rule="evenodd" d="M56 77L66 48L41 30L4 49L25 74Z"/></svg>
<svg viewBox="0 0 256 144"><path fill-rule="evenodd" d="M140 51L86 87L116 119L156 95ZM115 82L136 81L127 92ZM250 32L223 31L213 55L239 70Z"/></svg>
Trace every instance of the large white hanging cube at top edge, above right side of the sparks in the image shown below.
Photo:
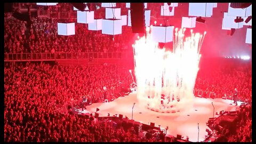
<svg viewBox="0 0 256 144"><path fill-rule="evenodd" d="M189 3L189 16L211 17L213 11L213 3Z"/></svg>

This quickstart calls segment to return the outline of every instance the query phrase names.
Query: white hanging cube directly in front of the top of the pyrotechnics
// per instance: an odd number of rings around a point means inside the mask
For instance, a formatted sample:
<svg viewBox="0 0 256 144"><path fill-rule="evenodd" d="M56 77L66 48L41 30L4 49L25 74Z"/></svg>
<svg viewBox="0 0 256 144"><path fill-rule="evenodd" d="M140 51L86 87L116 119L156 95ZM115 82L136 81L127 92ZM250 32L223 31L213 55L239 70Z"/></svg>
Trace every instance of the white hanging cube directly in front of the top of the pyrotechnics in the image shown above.
<svg viewBox="0 0 256 144"><path fill-rule="evenodd" d="M153 41L158 43L172 42L174 26L159 27L153 26L151 28L151 36Z"/></svg>

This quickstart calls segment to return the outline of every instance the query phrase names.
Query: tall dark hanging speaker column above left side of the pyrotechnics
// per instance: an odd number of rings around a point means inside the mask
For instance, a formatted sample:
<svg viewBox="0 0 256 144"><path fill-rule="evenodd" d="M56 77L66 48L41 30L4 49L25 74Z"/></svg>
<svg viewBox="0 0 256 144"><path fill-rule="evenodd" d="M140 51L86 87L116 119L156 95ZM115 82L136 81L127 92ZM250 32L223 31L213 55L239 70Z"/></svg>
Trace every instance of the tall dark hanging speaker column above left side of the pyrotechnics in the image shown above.
<svg viewBox="0 0 256 144"><path fill-rule="evenodd" d="M145 33L144 3L131 3L131 25L133 33Z"/></svg>

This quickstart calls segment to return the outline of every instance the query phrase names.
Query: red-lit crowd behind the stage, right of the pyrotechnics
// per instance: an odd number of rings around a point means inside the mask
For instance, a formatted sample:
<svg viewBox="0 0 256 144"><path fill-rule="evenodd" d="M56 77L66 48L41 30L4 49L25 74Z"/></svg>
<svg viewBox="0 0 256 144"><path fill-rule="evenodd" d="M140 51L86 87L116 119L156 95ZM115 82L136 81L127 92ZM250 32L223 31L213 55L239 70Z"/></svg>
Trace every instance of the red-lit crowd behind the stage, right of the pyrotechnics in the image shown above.
<svg viewBox="0 0 256 144"><path fill-rule="evenodd" d="M238 100L252 101L252 63L223 60L218 66L203 66L198 71L195 89L212 92L212 98L231 98L235 88Z"/></svg>

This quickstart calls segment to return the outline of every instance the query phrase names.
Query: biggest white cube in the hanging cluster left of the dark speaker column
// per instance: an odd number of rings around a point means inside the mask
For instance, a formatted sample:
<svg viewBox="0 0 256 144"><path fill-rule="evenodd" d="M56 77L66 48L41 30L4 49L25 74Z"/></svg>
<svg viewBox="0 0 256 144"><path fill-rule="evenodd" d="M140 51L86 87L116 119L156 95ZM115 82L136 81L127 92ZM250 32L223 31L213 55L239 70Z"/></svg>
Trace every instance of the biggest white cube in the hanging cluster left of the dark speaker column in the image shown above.
<svg viewBox="0 0 256 144"><path fill-rule="evenodd" d="M122 34L122 20L103 19L102 34L118 35Z"/></svg>

